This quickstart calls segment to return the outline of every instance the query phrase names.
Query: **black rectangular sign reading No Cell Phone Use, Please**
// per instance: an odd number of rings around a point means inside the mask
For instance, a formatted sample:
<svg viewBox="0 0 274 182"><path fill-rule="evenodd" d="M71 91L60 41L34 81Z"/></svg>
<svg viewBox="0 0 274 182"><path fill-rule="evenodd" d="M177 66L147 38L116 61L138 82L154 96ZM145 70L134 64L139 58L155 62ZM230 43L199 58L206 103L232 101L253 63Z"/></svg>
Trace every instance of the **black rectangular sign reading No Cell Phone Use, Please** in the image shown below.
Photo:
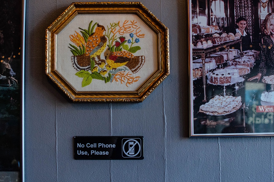
<svg viewBox="0 0 274 182"><path fill-rule="evenodd" d="M142 160L143 136L75 136L74 159L79 160Z"/></svg>

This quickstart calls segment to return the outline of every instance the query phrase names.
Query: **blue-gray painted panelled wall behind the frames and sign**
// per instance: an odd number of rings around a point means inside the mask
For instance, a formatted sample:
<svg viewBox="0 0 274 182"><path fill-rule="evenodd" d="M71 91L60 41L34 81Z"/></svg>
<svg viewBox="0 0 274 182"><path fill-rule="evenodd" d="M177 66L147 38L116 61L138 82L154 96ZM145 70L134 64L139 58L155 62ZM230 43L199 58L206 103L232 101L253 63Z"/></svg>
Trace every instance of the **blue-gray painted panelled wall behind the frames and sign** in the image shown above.
<svg viewBox="0 0 274 182"><path fill-rule="evenodd" d="M70 103L44 74L45 29L72 1L26 1L25 180L273 181L272 137L188 138L186 0L143 0L170 30L171 74L142 103ZM145 137L144 160L74 160L73 136Z"/></svg>

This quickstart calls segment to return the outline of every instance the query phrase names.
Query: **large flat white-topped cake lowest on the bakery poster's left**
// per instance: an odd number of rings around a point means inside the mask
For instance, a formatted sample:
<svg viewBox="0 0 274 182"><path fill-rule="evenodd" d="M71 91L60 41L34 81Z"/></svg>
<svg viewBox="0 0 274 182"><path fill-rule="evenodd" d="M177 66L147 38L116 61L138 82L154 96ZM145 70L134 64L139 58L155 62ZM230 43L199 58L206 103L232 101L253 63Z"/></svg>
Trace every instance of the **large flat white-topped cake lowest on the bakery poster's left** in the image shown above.
<svg viewBox="0 0 274 182"><path fill-rule="evenodd" d="M201 105L199 112L209 115L222 115L238 110L241 105L241 96L215 96L208 103Z"/></svg>

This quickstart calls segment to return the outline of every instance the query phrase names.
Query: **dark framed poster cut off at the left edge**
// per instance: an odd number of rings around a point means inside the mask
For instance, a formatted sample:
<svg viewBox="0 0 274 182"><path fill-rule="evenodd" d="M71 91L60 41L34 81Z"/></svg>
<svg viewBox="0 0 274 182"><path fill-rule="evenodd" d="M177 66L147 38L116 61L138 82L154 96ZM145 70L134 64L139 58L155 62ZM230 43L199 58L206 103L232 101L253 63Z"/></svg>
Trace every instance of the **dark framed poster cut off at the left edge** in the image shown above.
<svg viewBox="0 0 274 182"><path fill-rule="evenodd" d="M0 181L24 181L25 1L0 6Z"/></svg>

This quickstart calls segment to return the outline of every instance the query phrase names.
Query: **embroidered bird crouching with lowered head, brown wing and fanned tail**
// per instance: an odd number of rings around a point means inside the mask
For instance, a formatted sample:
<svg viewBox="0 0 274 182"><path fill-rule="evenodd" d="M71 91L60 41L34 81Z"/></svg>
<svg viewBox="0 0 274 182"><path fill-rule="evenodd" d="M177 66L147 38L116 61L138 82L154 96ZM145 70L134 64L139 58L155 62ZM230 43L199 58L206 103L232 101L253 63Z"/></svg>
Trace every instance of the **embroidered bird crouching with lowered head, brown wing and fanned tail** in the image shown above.
<svg viewBox="0 0 274 182"><path fill-rule="evenodd" d="M128 51L111 52L108 48L104 52L107 62L107 69L116 69L120 66L127 66L133 73L138 72L145 63L145 56L134 56Z"/></svg>

